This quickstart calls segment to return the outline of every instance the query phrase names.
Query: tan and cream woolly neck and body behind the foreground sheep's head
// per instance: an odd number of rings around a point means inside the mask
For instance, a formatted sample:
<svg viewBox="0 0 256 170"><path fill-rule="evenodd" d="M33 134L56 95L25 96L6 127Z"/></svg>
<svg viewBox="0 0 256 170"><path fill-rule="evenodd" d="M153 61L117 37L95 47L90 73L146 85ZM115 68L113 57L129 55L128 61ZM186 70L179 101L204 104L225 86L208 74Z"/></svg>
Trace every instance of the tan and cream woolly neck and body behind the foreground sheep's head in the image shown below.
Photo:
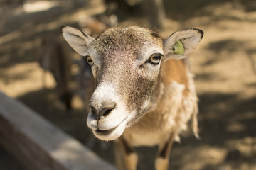
<svg viewBox="0 0 256 170"><path fill-rule="evenodd" d="M171 146L174 140L179 141L178 134L182 130L186 130L186 124L188 120L191 119L191 116L193 121L193 131L196 137L198 136L196 118L198 113L198 100L196 97L196 91L193 88L193 79L191 73L188 72L186 62L183 60L168 60L165 62L162 65L161 77L162 91L159 101L157 102L157 108L154 109L154 111L146 113L139 123L133 125L131 128L127 128L127 130L124 131L123 137L127 143L130 143L133 146L153 146L160 143L158 157L162 157L163 155L161 154L164 152L163 149L166 149L167 153L164 155L163 162L164 166L167 166ZM172 86L171 84L174 82L184 85L184 89L181 90L176 86ZM178 101L176 100L177 95L182 96L182 98L179 98L180 100ZM188 106L183 105L183 101L187 101ZM174 120L174 124L169 122L170 119ZM134 135L133 132L136 132L137 134ZM159 134L161 134L159 140L154 141L155 135L159 136ZM144 136L144 143L140 139L140 136ZM165 143L164 141L168 142ZM117 140L117 142L121 143L118 145L123 145L122 140ZM168 148L164 148L165 145L167 145ZM127 162L132 162L130 164L134 164L133 166L136 166L136 162L134 162L134 160L136 159L132 157L132 159L128 160ZM156 162L156 169L165 169L161 167L163 162ZM122 166L124 165L119 165L119 169L122 169Z"/></svg>

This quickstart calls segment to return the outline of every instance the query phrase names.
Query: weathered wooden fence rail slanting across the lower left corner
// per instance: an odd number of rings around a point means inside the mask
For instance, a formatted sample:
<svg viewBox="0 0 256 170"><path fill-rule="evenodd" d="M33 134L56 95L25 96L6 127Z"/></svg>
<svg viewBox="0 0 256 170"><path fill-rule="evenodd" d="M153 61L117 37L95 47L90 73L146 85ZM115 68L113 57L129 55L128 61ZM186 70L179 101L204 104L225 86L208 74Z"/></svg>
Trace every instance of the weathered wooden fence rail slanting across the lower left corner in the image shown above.
<svg viewBox="0 0 256 170"><path fill-rule="evenodd" d="M0 92L0 144L28 170L114 170L73 137Z"/></svg>

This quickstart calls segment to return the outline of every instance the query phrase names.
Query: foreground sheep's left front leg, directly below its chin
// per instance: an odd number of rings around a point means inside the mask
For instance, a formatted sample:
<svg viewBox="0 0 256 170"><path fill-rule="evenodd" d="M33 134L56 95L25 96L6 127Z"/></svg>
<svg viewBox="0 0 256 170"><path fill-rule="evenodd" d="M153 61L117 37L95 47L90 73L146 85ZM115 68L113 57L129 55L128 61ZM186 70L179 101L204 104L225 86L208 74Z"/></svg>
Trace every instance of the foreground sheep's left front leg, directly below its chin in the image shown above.
<svg viewBox="0 0 256 170"><path fill-rule="evenodd" d="M117 169L136 170L138 157L127 141L123 137L120 137L115 140L114 147Z"/></svg>

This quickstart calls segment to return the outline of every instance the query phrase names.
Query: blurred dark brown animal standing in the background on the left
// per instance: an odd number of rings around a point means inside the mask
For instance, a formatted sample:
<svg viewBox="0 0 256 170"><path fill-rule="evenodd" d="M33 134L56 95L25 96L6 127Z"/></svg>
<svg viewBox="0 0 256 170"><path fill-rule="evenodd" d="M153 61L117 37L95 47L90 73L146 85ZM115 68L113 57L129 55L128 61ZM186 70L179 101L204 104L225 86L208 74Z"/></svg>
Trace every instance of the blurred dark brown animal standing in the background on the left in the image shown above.
<svg viewBox="0 0 256 170"><path fill-rule="evenodd" d="M42 38L38 62L44 72L49 71L53 74L60 101L65 104L66 110L70 111L73 96L70 89L71 59L57 38L50 35ZM43 83L46 86L45 76Z"/></svg>

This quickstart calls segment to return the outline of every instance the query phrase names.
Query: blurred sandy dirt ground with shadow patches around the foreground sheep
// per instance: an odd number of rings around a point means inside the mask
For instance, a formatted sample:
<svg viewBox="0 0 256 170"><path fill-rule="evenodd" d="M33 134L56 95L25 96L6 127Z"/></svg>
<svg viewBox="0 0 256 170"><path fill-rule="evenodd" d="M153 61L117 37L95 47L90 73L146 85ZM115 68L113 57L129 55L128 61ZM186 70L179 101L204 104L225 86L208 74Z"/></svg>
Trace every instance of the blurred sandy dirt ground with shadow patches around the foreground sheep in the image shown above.
<svg viewBox="0 0 256 170"><path fill-rule="evenodd" d="M80 98L75 96L75 110L67 114L58 107L50 74L46 79L48 88L43 88L42 71L36 60L41 36L60 37L60 26L78 27L78 21L105 11L99 0L79 6L68 3L62 1L40 12L25 12L17 4L0 6L0 89L114 164L112 142L100 142L92 136ZM182 28L200 28L205 33L191 55L200 100L201 140L191 133L181 137L181 144L176 143L172 149L169 169L256 169L256 1L165 0L164 6L168 19L161 30L163 38ZM142 13L119 15L123 15L120 26L149 26ZM72 70L76 91L78 67L74 64ZM139 169L153 169L156 147L137 150ZM4 152L0 154L4 159ZM0 165L0 169L4 168Z"/></svg>

